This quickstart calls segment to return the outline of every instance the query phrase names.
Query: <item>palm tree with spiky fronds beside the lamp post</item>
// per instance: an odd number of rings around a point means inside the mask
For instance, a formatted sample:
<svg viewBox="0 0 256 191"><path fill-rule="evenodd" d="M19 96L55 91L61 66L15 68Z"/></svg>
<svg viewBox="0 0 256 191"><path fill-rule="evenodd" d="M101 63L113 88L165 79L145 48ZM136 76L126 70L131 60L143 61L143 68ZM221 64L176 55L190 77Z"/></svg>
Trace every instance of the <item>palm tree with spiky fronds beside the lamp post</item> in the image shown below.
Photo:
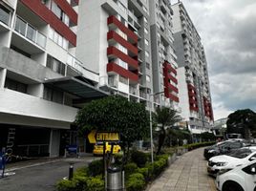
<svg viewBox="0 0 256 191"><path fill-rule="evenodd" d="M175 110L171 108L157 108L156 113L153 115L154 122L159 124L159 145L157 154L160 154L161 147L166 137L166 130L173 127L175 123L181 120L181 117L177 115Z"/></svg>

